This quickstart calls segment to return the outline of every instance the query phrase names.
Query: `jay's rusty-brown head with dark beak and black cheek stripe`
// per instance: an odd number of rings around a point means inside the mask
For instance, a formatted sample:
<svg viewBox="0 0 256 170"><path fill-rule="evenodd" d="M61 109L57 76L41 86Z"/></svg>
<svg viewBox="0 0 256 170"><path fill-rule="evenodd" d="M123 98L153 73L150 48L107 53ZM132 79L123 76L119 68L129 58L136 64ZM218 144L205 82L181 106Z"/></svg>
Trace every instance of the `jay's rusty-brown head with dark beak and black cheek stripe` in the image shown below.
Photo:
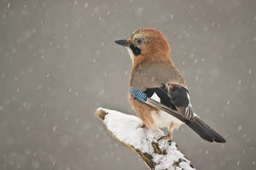
<svg viewBox="0 0 256 170"><path fill-rule="evenodd" d="M131 37L115 41L128 49L133 63L143 60L170 59L171 50L164 35L154 28L140 28Z"/></svg>

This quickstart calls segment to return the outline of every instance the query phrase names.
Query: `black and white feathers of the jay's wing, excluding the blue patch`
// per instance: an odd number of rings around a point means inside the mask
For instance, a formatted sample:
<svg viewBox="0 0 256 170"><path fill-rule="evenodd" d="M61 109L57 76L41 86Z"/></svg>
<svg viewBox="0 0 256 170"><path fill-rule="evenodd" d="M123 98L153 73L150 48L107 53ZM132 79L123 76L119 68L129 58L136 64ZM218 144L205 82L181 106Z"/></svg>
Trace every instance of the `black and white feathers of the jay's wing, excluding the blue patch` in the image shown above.
<svg viewBox="0 0 256 170"><path fill-rule="evenodd" d="M159 88L147 88L143 93L148 98L177 111L186 120L194 119L195 114L189 99L189 91L183 86L168 83Z"/></svg>

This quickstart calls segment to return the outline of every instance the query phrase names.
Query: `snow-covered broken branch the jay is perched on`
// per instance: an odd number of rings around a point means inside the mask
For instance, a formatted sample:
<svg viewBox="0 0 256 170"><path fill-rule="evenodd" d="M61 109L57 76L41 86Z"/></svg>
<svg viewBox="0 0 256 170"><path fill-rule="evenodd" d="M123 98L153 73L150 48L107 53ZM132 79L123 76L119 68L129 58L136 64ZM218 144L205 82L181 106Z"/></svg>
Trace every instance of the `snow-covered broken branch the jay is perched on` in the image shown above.
<svg viewBox="0 0 256 170"><path fill-rule="evenodd" d="M150 170L195 170L190 161L177 150L175 142L160 139L165 135L164 132L148 129L137 116L102 108L97 109L96 116L103 122L108 133L136 152Z"/></svg>

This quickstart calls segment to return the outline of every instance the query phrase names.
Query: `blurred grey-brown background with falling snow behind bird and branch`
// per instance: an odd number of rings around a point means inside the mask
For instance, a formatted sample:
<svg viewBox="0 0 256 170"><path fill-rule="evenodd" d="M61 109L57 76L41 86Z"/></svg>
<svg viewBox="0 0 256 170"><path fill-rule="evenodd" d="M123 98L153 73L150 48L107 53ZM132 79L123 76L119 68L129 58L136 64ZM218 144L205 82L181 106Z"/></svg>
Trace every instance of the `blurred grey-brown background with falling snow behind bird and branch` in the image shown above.
<svg viewBox="0 0 256 170"><path fill-rule="evenodd" d="M108 136L97 107L131 111L131 59L114 40L162 31L195 111L227 139L188 127L197 169L256 169L256 2L0 1L0 169L147 169Z"/></svg>

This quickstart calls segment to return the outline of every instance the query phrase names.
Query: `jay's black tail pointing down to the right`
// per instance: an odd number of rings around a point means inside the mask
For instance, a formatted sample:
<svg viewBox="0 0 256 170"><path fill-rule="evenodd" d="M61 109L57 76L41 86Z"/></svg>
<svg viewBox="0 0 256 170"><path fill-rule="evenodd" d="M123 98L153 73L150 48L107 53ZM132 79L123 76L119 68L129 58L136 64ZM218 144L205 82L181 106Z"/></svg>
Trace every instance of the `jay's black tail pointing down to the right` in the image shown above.
<svg viewBox="0 0 256 170"><path fill-rule="evenodd" d="M190 128L192 128L202 139L209 142L225 143L226 140L209 127L205 122L202 122L198 116L195 116L195 121L185 122Z"/></svg>

